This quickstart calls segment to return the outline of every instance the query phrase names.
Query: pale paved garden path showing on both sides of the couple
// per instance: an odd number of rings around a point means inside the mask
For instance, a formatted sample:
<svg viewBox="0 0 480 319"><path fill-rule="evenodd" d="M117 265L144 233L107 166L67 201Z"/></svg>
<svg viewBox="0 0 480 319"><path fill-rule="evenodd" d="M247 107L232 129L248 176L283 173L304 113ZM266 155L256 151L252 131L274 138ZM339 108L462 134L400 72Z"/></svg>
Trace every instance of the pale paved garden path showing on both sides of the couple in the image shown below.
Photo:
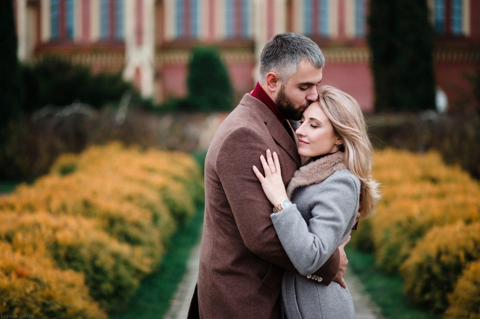
<svg viewBox="0 0 480 319"><path fill-rule="evenodd" d="M165 319L187 318L190 300L192 299L193 290L197 283L199 259L200 242L192 249L192 254L187 264L187 271L171 301L171 306L165 315ZM344 279L352 295L356 319L385 319L380 315L380 310L372 303L370 297L364 291L357 275L347 269Z"/></svg>

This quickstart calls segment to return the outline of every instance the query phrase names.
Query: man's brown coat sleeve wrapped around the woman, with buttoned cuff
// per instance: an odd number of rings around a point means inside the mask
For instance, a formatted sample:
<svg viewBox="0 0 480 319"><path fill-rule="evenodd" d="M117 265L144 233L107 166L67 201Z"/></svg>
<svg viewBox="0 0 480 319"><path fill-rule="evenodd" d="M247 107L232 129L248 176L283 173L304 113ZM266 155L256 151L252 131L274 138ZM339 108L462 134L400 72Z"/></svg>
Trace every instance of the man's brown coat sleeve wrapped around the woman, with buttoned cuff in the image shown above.
<svg viewBox="0 0 480 319"><path fill-rule="evenodd" d="M219 149L216 173L245 246L257 256L295 271L273 227L270 218L273 206L252 170L255 165L263 173L260 155L267 148L265 139L254 130L246 127L236 129L225 138ZM324 278L324 285L330 284L335 277L339 261L340 253L336 250L324 267L315 273Z"/></svg>

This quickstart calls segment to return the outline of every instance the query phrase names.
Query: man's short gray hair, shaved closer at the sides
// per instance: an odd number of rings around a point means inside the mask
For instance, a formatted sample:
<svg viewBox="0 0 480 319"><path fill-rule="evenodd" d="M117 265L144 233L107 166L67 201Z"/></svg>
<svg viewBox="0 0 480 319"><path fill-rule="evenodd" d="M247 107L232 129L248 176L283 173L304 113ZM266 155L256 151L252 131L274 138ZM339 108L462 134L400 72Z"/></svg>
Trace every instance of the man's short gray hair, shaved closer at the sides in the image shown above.
<svg viewBox="0 0 480 319"><path fill-rule="evenodd" d="M312 62L315 68L325 65L322 50L311 39L291 32L276 34L267 41L260 55L260 83L265 83L269 72L275 72L282 82L287 82L302 60Z"/></svg>

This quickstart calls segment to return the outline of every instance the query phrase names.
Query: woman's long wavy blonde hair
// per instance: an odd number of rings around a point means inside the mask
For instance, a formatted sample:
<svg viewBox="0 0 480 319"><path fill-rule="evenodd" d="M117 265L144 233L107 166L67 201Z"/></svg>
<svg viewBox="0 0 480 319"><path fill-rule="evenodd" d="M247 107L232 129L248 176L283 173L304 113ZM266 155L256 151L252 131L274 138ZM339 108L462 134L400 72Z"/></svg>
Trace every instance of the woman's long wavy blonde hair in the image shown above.
<svg viewBox="0 0 480 319"><path fill-rule="evenodd" d="M368 218L375 212L380 194L379 183L372 178L373 146L360 105L347 93L327 85L318 88L318 102L343 141L345 165L361 182L360 213Z"/></svg>

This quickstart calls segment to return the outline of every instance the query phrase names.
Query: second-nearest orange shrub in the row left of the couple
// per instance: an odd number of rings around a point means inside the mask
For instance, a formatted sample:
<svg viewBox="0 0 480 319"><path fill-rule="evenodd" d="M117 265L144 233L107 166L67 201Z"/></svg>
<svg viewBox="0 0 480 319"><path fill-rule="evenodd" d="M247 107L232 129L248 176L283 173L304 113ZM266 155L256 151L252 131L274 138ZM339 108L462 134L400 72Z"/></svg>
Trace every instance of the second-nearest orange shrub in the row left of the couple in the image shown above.
<svg viewBox="0 0 480 319"><path fill-rule="evenodd" d="M145 255L141 246L108 236L95 220L41 212L0 214L0 239L24 255L40 252L61 269L84 273L90 295L104 308L127 301L163 252L159 247L157 258Z"/></svg>

